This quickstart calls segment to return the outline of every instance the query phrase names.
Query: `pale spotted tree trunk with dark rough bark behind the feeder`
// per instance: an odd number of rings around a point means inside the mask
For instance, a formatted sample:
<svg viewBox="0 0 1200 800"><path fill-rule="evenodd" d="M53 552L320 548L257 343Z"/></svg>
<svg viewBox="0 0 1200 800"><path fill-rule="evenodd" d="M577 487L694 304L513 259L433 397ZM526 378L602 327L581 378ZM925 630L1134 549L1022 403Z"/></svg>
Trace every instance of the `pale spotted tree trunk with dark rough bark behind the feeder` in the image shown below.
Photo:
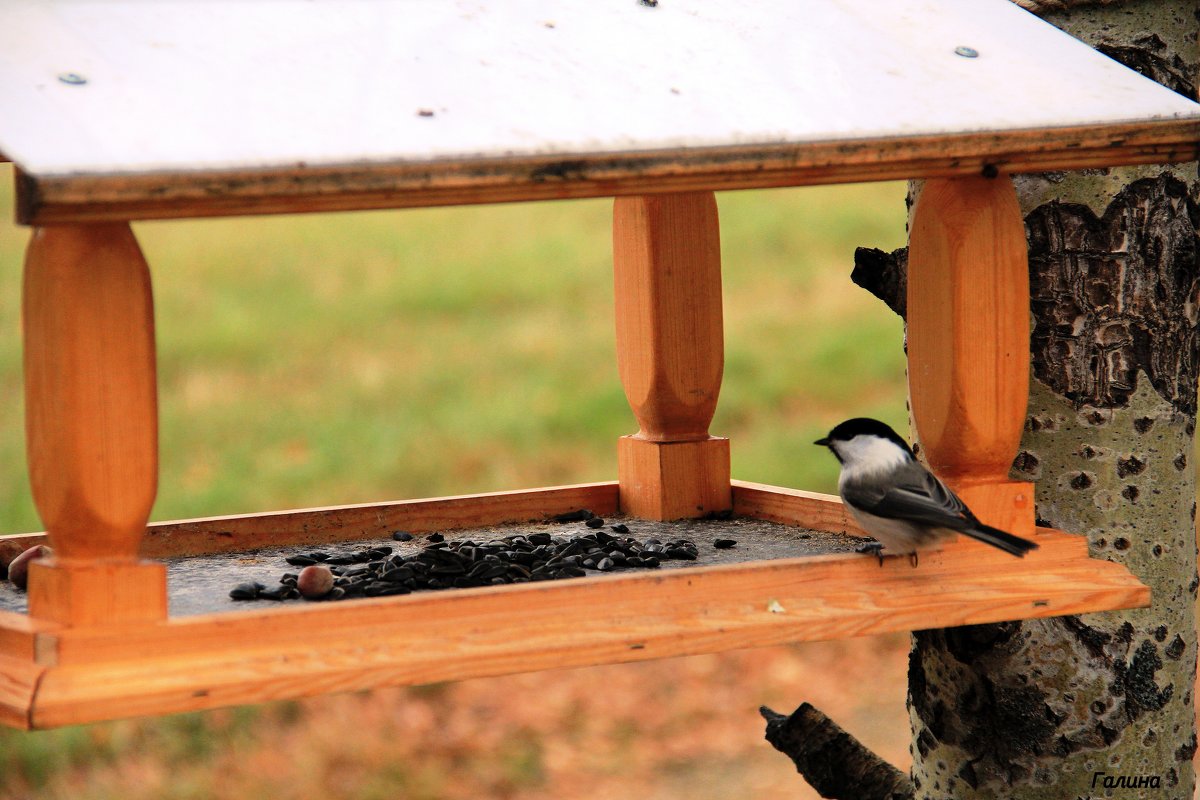
<svg viewBox="0 0 1200 800"><path fill-rule="evenodd" d="M1195 96L1195 0L1034 5ZM1086 535L1093 557L1151 587L1153 606L914 633L912 788L937 800L1192 800L1196 166L1026 175L1016 187L1033 327L1013 477L1037 481L1040 524ZM904 252L856 261L856 282L902 313Z"/></svg>

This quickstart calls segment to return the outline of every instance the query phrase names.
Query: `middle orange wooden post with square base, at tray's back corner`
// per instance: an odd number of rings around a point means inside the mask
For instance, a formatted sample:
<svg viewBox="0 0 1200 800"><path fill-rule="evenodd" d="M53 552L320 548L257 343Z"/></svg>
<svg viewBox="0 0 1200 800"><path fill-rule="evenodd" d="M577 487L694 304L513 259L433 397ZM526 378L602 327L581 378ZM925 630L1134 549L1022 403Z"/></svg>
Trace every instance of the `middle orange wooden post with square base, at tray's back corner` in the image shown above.
<svg viewBox="0 0 1200 800"><path fill-rule="evenodd" d="M708 434L725 368L716 198L617 198L613 266L617 366L638 423L618 443L620 507L647 519L730 509L730 443Z"/></svg>

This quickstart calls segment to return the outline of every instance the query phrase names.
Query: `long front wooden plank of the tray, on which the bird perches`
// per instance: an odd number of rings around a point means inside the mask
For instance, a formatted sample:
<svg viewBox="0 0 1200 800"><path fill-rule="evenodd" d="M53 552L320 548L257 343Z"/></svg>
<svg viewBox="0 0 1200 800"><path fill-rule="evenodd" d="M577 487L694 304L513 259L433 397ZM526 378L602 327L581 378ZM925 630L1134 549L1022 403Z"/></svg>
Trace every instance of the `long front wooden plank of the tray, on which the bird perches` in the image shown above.
<svg viewBox="0 0 1200 800"><path fill-rule="evenodd" d="M642 581L632 590L614 582L546 584L546 602L500 609L493 603L490 612L472 602L466 613L413 614L368 601L371 608L359 608L370 612L366 621L347 610L337 614L342 627L306 622L299 630L280 620L268 625L224 615L160 626L174 627L170 639L176 642L218 639L216 649L180 654L161 636L134 637L122 645L131 657L49 669L31 723L54 727L1148 602L1148 590L1122 567L1106 561L1099 566L1039 570L1026 575L1018 591L1013 575L994 571L964 571L958 590L949 593L944 581L916 581L912 570L883 570L898 579L880 579L877 567L863 565L851 570L856 575L840 589L829 591L826 584L815 601L810 590L821 578L805 577L808 569L790 564L762 570L749 582L736 571L706 577L679 571L665 581L668 585ZM580 625L581 619L587 625ZM64 639L73 633L64 631ZM266 640L247 636L252 633Z"/></svg>

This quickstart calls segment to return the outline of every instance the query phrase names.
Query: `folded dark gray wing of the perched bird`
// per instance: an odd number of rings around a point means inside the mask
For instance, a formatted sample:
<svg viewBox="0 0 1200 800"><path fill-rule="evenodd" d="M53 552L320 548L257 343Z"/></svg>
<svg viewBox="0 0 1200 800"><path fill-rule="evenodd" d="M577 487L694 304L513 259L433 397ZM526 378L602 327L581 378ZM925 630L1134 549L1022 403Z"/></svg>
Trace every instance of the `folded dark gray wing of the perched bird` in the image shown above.
<svg viewBox="0 0 1200 800"><path fill-rule="evenodd" d="M966 530L976 524L974 515L954 492L920 464L898 470L886 488L864 481L846 481L842 499L877 517L905 519L923 525Z"/></svg>

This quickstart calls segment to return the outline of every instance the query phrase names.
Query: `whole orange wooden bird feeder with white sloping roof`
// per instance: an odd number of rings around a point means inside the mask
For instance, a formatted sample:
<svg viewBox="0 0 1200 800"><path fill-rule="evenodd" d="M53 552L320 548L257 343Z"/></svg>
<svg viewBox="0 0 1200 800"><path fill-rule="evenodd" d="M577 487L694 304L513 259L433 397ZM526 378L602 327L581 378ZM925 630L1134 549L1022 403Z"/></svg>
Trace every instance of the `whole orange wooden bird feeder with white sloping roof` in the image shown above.
<svg viewBox="0 0 1200 800"><path fill-rule="evenodd" d="M1088 559L1084 537L1036 528L1032 486L1008 480L1030 357L1008 176L1195 161L1200 106L1007 0L20 0L0 10L0 108L18 221L34 227L25 429L47 528L0 548L7 560L48 540L55 553L32 564L28 606L0 610L0 722L1148 602L1122 566ZM166 563L580 507L732 510L859 534L834 497L731 480L730 441L709 434L722 372L714 192L913 178L928 182L911 225L912 413L968 505L1038 541L1028 558L964 540L913 569L784 547L575 581L170 610ZM617 445L616 481L146 524L154 313L131 221L583 197L616 198L617 351L638 426Z"/></svg>

